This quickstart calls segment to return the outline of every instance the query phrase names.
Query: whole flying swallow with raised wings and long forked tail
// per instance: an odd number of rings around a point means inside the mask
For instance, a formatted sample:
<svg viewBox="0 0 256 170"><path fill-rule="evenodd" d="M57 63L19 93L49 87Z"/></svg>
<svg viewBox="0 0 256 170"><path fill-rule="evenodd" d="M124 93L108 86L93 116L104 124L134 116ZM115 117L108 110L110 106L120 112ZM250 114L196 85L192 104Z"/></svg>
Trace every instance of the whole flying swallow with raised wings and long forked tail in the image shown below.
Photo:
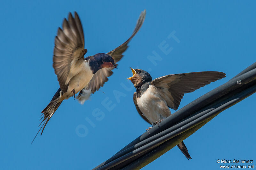
<svg viewBox="0 0 256 170"><path fill-rule="evenodd" d="M74 96L80 100L80 103L84 103L92 92L99 90L100 86L108 81L107 77L112 75L112 69L117 68L115 62L122 59L129 41L139 31L145 16L146 10L141 12L131 37L122 45L107 54L99 53L86 58L84 58L87 52L87 49L84 49L84 32L77 13L75 12L75 17L69 13L68 20L64 18L62 29L58 29L55 37L53 51L53 68L60 88L42 111L44 119L40 125L44 123L43 129L42 127L39 129L39 131L42 129L41 135L63 100ZM77 92L79 92L78 96L76 96Z"/></svg>

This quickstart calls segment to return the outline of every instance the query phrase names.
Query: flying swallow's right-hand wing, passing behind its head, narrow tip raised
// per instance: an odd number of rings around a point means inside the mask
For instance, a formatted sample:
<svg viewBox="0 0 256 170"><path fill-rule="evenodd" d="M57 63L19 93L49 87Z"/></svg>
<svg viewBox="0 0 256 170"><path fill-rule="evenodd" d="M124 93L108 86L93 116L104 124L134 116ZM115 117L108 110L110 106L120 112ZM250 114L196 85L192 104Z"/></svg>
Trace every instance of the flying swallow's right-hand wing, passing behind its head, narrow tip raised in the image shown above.
<svg viewBox="0 0 256 170"><path fill-rule="evenodd" d="M115 63L122 59L124 56L124 51L128 48L128 43L131 41L132 37L140 30L140 27L142 26L146 16L146 10L142 11L140 14L140 17L137 21L136 27L132 33L132 36L125 41L122 45L117 47L116 49L108 52L107 54L112 56L115 60ZM104 85L105 82L108 81L108 77L113 74L112 72L113 68L103 68L97 71L94 76L92 77L91 81L88 83L87 87L85 89L91 89L92 93L99 90L100 87Z"/></svg>

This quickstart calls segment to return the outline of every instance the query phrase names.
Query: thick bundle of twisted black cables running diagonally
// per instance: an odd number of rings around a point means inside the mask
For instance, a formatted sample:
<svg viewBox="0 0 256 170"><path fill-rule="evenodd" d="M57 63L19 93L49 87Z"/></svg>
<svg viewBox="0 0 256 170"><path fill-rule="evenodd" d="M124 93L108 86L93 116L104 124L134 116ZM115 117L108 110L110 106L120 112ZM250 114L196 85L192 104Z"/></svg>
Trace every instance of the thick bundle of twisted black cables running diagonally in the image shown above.
<svg viewBox="0 0 256 170"><path fill-rule="evenodd" d="M256 92L256 63L192 101L94 169L140 169L172 149L220 112Z"/></svg>

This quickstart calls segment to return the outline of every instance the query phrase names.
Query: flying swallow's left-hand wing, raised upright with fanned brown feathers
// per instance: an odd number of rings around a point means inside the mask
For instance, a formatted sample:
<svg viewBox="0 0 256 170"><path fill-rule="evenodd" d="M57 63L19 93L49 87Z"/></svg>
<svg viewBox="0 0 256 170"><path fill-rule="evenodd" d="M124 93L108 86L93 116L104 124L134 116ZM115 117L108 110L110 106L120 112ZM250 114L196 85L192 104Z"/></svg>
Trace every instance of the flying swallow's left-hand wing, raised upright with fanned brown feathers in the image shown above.
<svg viewBox="0 0 256 170"><path fill-rule="evenodd" d="M76 66L84 61L84 32L81 21L69 12L68 20L64 18L62 29L59 27L55 37L53 51L53 68L58 77L62 92L67 92L70 79L76 75Z"/></svg>

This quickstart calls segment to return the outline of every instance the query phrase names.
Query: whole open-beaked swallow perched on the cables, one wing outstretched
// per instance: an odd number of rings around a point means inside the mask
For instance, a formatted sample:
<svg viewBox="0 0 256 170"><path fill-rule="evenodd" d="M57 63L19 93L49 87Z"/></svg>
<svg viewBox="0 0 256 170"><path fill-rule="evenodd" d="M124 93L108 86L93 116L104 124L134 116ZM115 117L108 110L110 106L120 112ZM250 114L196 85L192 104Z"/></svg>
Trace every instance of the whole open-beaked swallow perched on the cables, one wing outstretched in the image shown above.
<svg viewBox="0 0 256 170"><path fill-rule="evenodd" d="M132 81L136 92L133 102L140 116L148 123L158 125L171 115L169 108L177 110L185 93L226 77L225 73L216 71L170 74L152 81L150 74L144 70L132 69ZM146 129L149 132L149 127ZM177 145L186 158L191 159L184 142Z"/></svg>

